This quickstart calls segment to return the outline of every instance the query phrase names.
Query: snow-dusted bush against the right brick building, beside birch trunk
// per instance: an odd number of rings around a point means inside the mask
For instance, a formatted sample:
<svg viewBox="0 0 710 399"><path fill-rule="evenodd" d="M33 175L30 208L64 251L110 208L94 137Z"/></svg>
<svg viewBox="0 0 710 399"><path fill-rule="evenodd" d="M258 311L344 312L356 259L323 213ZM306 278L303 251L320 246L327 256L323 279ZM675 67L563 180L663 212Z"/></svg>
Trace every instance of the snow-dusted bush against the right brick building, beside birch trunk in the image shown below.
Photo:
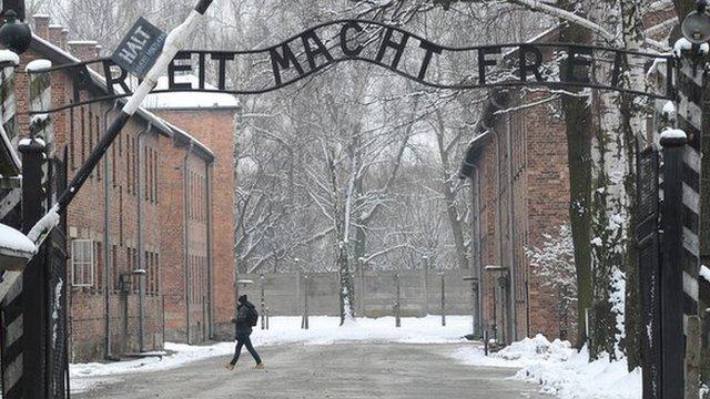
<svg viewBox="0 0 710 399"><path fill-rule="evenodd" d="M577 306L577 272L575 268L575 244L569 224L559 227L556 235L544 234L541 247L526 248L531 273L539 277L544 287L557 296L557 315L560 330L564 323L574 329Z"/></svg>

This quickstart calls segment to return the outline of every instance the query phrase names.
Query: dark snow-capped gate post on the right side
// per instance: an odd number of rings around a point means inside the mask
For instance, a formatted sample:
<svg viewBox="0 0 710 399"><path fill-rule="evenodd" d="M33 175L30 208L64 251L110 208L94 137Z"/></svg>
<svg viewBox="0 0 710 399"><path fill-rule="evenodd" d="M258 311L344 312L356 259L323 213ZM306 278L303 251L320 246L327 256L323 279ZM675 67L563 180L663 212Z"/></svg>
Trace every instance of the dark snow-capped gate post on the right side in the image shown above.
<svg viewBox="0 0 710 399"><path fill-rule="evenodd" d="M661 398L683 397L683 284L682 215L683 152L686 136L662 135L663 205L661 213Z"/></svg>

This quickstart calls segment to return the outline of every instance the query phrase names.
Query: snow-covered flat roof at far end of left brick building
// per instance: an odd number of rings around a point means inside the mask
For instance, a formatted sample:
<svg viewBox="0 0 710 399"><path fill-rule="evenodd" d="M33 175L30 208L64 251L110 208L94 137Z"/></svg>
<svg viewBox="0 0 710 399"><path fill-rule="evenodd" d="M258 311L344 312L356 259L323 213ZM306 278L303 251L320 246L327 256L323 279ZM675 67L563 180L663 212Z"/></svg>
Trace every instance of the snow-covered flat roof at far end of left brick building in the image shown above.
<svg viewBox="0 0 710 399"><path fill-rule="evenodd" d="M174 80L175 83L190 83L193 88L197 88L200 83L197 76L193 74L176 75ZM204 86L207 90L217 90L209 83ZM168 76L161 76L155 89L166 90ZM239 105L239 101L232 94L195 91L149 94L143 102L146 109L215 109Z"/></svg>

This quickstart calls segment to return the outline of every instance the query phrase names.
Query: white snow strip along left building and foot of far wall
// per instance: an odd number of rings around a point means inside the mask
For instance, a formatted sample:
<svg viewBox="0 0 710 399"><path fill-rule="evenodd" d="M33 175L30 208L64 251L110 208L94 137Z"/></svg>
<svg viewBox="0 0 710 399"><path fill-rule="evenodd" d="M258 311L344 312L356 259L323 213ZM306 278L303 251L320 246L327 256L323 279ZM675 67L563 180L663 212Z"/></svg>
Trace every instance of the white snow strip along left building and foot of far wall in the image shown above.
<svg viewBox="0 0 710 399"><path fill-rule="evenodd" d="M470 316L447 316L446 327L442 327L440 316L403 318L402 327L395 327L394 317L377 319L359 318L356 323L339 327L337 317L311 317L310 329L301 329L301 317L272 317L270 329L256 328L252 334L254 346L271 345L329 345L335 342L369 341L403 344L448 344L464 342L464 335L470 334ZM110 364L73 364L70 366L71 389L85 391L101 383L116 381L115 376L168 370L191 361L211 357L229 357L233 354L233 342L211 346L189 346L165 342L165 350L172 352L161 358L151 357Z"/></svg>

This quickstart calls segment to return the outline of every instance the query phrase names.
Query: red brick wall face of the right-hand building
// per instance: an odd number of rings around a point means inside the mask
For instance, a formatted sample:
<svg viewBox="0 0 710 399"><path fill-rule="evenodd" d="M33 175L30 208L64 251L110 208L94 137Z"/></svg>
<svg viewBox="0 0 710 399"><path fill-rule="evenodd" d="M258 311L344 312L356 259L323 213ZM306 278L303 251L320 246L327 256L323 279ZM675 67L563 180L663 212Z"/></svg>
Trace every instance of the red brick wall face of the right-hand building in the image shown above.
<svg viewBox="0 0 710 399"><path fill-rule="evenodd" d="M546 94L518 95L511 94L508 108ZM477 163L481 266L503 266L513 275L511 287L503 289L498 277L504 273L481 272L484 328L506 341L538 332L549 338L559 337L560 330L574 334L572 320L560 320L556 294L544 286L525 254L569 221L567 141L564 121L551 112L556 106L552 102L498 115Z"/></svg>

